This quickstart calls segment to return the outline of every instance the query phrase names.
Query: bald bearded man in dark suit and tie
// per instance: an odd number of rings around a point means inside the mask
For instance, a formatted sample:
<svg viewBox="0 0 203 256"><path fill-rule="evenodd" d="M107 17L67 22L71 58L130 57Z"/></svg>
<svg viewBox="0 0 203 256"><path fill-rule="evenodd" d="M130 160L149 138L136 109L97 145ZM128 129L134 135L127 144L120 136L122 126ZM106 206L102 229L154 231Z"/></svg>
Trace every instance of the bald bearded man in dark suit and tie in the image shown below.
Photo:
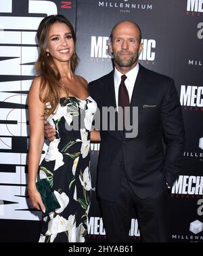
<svg viewBox="0 0 203 256"><path fill-rule="evenodd" d="M118 22L110 35L114 71L89 84L100 112L103 107L138 107L136 137L100 130L97 196L109 242L129 241L133 213L143 242L168 241L168 187L177 179L183 156L185 134L174 81L138 64L142 48L139 26Z"/></svg>

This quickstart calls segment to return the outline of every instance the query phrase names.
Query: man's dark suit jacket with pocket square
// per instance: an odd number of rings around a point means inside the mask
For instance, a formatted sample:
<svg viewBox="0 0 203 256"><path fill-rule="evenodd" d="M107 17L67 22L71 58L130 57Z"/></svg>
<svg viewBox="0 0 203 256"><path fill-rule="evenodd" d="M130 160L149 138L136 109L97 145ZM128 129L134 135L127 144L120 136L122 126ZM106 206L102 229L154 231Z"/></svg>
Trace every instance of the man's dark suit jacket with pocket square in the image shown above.
<svg viewBox="0 0 203 256"><path fill-rule="evenodd" d="M115 107L114 71L89 83L89 94L102 107ZM122 169L139 198L173 185L181 168L185 132L173 79L139 65L131 107L138 107L138 135L126 139L118 130L101 130L97 195L115 202Z"/></svg>

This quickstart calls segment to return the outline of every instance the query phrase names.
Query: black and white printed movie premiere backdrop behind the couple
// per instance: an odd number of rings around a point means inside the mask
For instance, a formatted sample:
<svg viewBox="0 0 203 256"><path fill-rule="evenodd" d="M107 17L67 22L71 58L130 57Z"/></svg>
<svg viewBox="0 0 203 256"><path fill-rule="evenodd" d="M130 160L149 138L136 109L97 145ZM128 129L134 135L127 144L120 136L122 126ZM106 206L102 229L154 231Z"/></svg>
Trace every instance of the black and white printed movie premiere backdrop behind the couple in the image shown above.
<svg viewBox="0 0 203 256"><path fill-rule="evenodd" d="M144 67L175 79L183 111L186 147L170 200L171 242L203 242L203 0L0 0L0 242L37 242L41 214L26 195L29 142L27 95L35 75L36 31L47 15L63 14L76 30L76 73L92 81L112 70L112 26L133 20L143 34ZM43 156L47 143L43 148ZM99 144L91 144L95 191ZM42 156L42 157L43 157ZM88 238L106 242L95 192ZM137 217L129 238L140 241Z"/></svg>

